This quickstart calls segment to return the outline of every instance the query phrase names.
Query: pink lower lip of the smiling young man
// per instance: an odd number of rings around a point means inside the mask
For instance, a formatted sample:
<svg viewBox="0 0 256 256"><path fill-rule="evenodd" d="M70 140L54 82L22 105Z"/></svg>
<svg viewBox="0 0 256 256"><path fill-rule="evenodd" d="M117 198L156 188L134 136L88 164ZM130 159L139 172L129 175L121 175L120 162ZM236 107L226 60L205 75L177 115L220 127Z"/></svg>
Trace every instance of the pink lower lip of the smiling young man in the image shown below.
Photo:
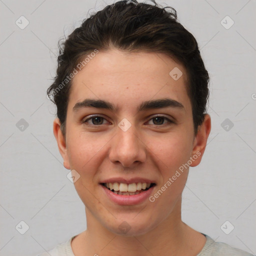
<svg viewBox="0 0 256 256"><path fill-rule="evenodd" d="M140 192L138 194L133 194L133 195L121 195L121 194L115 194L114 192L110 191L107 189L105 186L101 185L100 186L103 188L105 191L106 195L115 203L120 204L120 205L132 205L132 204L138 204L143 201L145 201L150 194L153 191L153 188L155 187L152 186L149 189Z"/></svg>

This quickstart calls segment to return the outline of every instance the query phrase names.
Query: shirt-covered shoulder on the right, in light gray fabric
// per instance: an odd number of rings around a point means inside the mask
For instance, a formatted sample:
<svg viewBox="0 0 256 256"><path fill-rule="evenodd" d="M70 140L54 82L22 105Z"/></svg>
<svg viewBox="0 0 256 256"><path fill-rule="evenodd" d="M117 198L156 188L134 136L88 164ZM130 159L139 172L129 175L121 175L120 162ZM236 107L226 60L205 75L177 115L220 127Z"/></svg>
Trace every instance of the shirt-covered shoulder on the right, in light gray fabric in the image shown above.
<svg viewBox="0 0 256 256"><path fill-rule="evenodd" d="M206 243L197 256L253 256L253 254L232 247L224 242L215 242L210 236L206 237Z"/></svg>

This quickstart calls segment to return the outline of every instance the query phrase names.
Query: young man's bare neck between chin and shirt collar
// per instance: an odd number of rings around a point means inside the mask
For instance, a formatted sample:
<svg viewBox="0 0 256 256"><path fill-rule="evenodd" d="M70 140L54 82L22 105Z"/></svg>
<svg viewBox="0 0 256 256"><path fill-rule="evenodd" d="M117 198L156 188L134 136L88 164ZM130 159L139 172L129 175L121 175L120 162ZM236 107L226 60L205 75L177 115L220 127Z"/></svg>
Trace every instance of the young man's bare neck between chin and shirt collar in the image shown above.
<svg viewBox="0 0 256 256"><path fill-rule="evenodd" d="M199 252L203 247L202 235L181 221L181 197L172 212L157 226L140 235L121 235L103 226L94 215L85 208L87 229L80 243L80 254L104 255L113 252L123 256L138 255L191 255L191 250ZM200 243L198 242L198 234ZM196 248L194 245L198 245ZM196 252L196 253L197 253ZM194 254L196 255L196 254Z"/></svg>

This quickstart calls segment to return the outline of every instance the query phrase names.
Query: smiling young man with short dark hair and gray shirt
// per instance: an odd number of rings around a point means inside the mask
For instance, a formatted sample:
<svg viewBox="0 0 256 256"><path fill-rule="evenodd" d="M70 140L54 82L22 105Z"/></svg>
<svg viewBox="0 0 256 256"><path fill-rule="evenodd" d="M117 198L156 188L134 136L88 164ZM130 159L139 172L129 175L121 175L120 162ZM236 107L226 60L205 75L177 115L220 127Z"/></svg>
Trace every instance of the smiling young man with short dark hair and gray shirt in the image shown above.
<svg viewBox="0 0 256 256"><path fill-rule="evenodd" d="M181 220L188 169L210 132L209 77L176 11L154 4L108 5L60 49L47 93L87 229L51 256L251 255Z"/></svg>

